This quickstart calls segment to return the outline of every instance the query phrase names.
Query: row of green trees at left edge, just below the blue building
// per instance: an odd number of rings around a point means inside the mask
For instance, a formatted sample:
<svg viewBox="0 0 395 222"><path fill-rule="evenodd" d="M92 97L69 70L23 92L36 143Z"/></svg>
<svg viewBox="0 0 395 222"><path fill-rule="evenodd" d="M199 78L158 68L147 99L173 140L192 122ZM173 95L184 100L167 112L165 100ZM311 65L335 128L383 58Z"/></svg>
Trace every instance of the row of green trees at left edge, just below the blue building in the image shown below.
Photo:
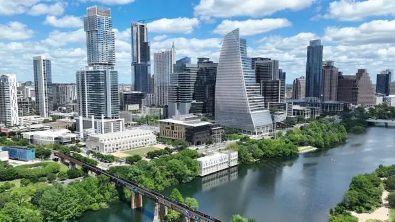
<svg viewBox="0 0 395 222"><path fill-rule="evenodd" d="M49 173L58 173L60 165L55 162L41 162L12 167L11 165L0 165L0 181L12 181L15 179L28 179L38 182Z"/></svg>

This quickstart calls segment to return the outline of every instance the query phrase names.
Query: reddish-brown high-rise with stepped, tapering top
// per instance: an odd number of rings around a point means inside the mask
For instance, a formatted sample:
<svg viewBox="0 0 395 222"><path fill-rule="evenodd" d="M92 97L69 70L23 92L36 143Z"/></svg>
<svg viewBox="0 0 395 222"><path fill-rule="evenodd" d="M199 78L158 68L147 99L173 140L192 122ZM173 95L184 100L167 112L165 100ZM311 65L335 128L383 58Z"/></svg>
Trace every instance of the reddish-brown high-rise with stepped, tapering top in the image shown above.
<svg viewBox="0 0 395 222"><path fill-rule="evenodd" d="M338 101L368 107L376 103L374 87L366 70L359 69L356 75L339 76L338 81Z"/></svg>

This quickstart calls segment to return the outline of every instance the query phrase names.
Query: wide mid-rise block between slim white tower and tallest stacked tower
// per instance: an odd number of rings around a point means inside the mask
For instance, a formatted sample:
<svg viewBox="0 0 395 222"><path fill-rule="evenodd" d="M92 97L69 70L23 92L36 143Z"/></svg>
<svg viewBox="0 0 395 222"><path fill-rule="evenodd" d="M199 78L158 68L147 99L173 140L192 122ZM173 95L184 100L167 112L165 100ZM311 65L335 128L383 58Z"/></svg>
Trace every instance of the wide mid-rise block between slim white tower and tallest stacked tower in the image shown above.
<svg viewBox="0 0 395 222"><path fill-rule="evenodd" d="M57 110L62 104L73 103L77 100L77 85L75 83L52 83L53 108Z"/></svg>

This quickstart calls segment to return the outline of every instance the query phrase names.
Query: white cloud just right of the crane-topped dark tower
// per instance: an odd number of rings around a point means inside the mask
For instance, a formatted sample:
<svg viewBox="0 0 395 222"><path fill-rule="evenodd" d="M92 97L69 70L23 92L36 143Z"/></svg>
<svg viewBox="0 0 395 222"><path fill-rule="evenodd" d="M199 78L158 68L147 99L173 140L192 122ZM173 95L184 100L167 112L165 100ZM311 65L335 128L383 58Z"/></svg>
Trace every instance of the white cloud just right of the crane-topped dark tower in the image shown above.
<svg viewBox="0 0 395 222"><path fill-rule="evenodd" d="M194 28L199 26L197 18L162 18L147 24L149 32L152 33L181 33L190 34Z"/></svg>

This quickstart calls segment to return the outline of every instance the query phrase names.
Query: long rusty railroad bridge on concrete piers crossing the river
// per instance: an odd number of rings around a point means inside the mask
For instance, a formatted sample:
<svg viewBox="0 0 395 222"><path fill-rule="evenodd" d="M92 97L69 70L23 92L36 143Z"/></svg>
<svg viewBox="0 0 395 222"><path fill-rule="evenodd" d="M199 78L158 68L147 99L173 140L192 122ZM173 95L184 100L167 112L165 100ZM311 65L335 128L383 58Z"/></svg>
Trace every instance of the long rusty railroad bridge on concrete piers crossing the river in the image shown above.
<svg viewBox="0 0 395 222"><path fill-rule="evenodd" d="M109 173L97 166L93 166L88 163L82 162L71 155L67 155L59 151L53 151L53 152L56 156L60 158L62 162L68 160L72 167L75 167L75 165L84 166L87 169L89 169L89 171L94 172L96 174L104 174L117 185L121 185L123 187L128 188L131 192L130 199L131 199L132 209L141 208L143 206L143 200L142 200L143 195L145 197L154 200L156 204L155 204L155 213L154 213L153 222L160 222L161 219L167 214L168 208L173 209L184 215L187 222L221 222L220 220L217 220L200 211L194 210L186 206L185 204L174 201L169 197L166 197L158 192L155 192L154 190L145 188L131 181L122 179L117 175Z"/></svg>

